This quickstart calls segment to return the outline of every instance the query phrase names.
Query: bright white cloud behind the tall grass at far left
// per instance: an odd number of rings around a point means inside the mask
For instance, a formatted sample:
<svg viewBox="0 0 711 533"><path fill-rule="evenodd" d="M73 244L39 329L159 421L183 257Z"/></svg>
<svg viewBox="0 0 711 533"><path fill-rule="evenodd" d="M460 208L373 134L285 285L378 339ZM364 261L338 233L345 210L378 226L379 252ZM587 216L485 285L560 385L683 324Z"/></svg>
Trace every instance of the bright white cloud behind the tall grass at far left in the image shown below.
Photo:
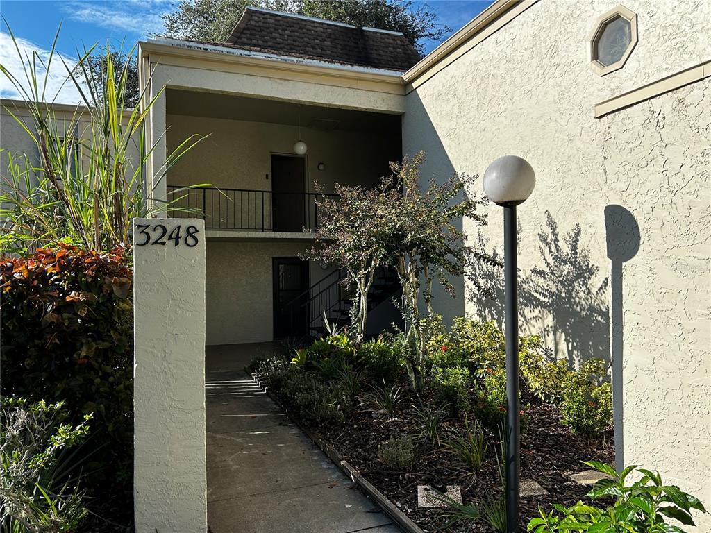
<svg viewBox="0 0 711 533"><path fill-rule="evenodd" d="M29 83L28 80L26 80L23 65L26 65L28 61L31 62L33 60L33 52L36 52L38 58L34 58L34 61L37 65L37 83L38 87L40 87L40 91L41 87L45 87L44 99L47 102L55 101L63 104L77 104L81 102L82 98L79 91L75 87L74 82L67 79L67 67L65 67L62 62L62 59L64 59L67 66L73 68L76 65L76 60L55 52L47 75L42 63L47 65L50 56L49 50L45 50L35 43L31 43L31 41L18 38L17 36L16 42L22 57L18 55L15 44L12 42L12 38L9 34L0 31L0 64L16 77L25 90L28 90ZM46 85L44 85L45 77L47 77ZM6 75L2 73L0 73L0 97L25 99Z"/></svg>

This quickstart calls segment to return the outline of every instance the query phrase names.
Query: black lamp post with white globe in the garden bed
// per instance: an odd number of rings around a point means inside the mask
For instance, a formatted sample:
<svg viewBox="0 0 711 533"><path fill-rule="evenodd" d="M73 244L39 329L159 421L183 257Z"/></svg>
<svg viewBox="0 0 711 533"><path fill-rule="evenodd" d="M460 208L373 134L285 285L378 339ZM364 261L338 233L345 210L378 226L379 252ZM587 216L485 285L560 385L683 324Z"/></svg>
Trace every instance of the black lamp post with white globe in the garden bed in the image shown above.
<svg viewBox="0 0 711 533"><path fill-rule="evenodd" d="M518 372L518 266L516 206L533 193L535 173L528 161L504 156L484 172L484 193L503 207L504 283L506 285L506 531L518 530L520 481L520 400Z"/></svg>

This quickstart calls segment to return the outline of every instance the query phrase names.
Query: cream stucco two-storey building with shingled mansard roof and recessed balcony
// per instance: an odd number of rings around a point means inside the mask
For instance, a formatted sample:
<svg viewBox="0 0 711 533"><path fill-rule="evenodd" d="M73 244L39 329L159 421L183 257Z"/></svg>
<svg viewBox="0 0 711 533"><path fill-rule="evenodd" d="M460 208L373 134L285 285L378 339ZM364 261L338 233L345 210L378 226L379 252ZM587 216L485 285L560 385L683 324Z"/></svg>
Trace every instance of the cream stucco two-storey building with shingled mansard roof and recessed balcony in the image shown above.
<svg viewBox="0 0 711 533"><path fill-rule="evenodd" d="M619 463L653 465L711 501L711 4L498 0L414 65L403 48L369 55L400 43L389 33L245 17L228 43L140 44L142 80L154 95L166 87L151 110L155 139L168 129L153 165L211 134L167 184L149 184L156 197L190 183L277 191L296 141L305 184L301 168L287 173L301 195L314 181L375 183L419 150L426 177L523 156L538 185L520 208L522 328L572 362L611 360ZM365 36L365 53L324 44L341 31ZM235 194L230 205L245 200ZM207 230L208 343L272 339L275 258L309 242L270 220L276 192L265 208L255 194L250 215L215 220L246 219ZM500 217L492 207L481 234L464 229L501 249ZM309 283L326 274L309 266ZM498 290L498 274L477 274ZM464 298L455 281L460 297L437 298L438 311L501 321L500 302Z"/></svg>

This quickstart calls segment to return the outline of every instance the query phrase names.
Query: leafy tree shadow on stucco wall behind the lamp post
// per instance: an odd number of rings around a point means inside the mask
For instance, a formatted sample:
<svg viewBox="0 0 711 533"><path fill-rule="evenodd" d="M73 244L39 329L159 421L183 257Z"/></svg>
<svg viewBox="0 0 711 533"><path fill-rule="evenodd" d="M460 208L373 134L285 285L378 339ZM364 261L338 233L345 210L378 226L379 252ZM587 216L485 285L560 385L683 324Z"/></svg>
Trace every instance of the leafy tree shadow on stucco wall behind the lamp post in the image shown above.
<svg viewBox="0 0 711 533"><path fill-rule="evenodd" d="M520 235L520 232L518 232ZM540 335L550 355L565 357L571 367L591 357L609 362L608 279L599 279L599 266L581 244L582 230L575 225L560 235L557 222L546 212L545 227L538 234L540 261L520 269L518 299L520 328ZM477 247L488 249L479 234ZM495 257L503 259L496 249ZM495 265L476 265L473 275L481 290L468 295L483 315L503 325L503 270Z"/></svg>

